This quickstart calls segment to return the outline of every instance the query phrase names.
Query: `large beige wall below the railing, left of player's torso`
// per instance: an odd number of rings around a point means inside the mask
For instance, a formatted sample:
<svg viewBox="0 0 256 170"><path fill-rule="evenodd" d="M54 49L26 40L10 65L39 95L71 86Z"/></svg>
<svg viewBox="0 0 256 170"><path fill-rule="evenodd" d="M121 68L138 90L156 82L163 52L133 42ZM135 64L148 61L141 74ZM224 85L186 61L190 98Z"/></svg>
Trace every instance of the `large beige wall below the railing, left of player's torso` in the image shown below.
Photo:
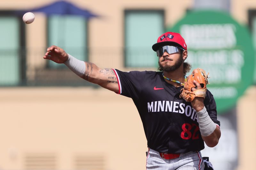
<svg viewBox="0 0 256 170"><path fill-rule="evenodd" d="M57 169L74 169L77 155L103 155L106 169L128 170L127 161L145 168L147 141L131 99L102 88L1 88L0 94L0 168L25 169L29 153L54 153Z"/></svg>

